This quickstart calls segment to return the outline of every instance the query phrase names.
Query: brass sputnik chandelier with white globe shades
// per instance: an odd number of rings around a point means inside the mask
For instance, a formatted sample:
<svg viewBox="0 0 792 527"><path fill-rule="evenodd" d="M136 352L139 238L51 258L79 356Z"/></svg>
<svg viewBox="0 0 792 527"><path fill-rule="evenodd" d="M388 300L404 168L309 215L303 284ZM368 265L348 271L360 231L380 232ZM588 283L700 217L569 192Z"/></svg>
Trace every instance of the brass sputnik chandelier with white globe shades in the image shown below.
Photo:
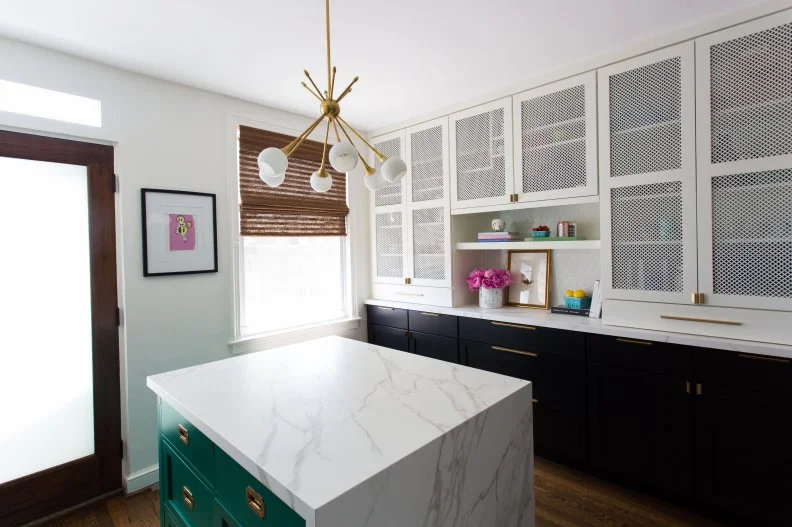
<svg viewBox="0 0 792 527"><path fill-rule="evenodd" d="M304 70L304 72L311 86L308 86L305 82L302 83L303 88L308 90L311 95L319 100L319 111L321 115L302 134L297 136L294 141L285 147L270 147L262 150L258 156L259 177L272 187L277 187L283 183L283 180L286 178L286 169L289 166L289 156L300 148L303 141L322 124L322 121L326 120L327 125L325 128L324 148L322 149L322 164L319 170L311 175L311 187L317 192L327 192L333 185L333 178L327 172L326 168L328 160L327 140L330 137L330 125L333 125L337 143L330 149L330 165L338 172L350 172L357 167L358 160L360 160L366 171L363 182L369 190L377 190L386 182L399 181L404 177L404 174L407 172L407 165L398 157L385 157L341 117L341 106L339 103L344 97L349 95L352 91L352 86L358 81L359 77L352 79L352 82L341 92L338 98L334 98L336 68L330 65L330 0L325 0L325 11L327 15L327 90L321 91L319 89L308 73L308 70ZM338 134L339 128L344 134L344 137L346 137L346 141L341 141L341 137ZM381 163L379 169L375 169L366 162L363 155L352 144L349 131L374 152L374 155Z"/></svg>

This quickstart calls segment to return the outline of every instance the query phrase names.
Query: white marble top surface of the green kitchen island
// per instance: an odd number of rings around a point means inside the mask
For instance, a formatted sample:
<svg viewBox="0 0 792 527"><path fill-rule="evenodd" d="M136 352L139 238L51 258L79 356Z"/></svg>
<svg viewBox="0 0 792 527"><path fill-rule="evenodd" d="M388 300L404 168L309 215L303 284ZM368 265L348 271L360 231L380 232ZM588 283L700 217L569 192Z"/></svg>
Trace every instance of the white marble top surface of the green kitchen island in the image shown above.
<svg viewBox="0 0 792 527"><path fill-rule="evenodd" d="M147 385L309 526L320 507L530 390L519 379L340 337L162 373Z"/></svg>

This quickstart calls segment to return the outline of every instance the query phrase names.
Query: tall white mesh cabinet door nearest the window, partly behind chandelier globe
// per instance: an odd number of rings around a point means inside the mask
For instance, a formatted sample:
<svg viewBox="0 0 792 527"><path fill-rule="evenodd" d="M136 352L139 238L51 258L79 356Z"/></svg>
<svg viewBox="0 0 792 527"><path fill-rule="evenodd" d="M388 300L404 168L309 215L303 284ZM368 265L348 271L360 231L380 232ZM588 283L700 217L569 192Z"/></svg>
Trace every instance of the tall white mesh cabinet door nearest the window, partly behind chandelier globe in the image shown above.
<svg viewBox="0 0 792 527"><path fill-rule="evenodd" d="M385 156L404 159L404 130L371 139ZM375 167L380 167L375 160ZM403 284L408 276L407 177L371 193L372 276L374 283Z"/></svg>

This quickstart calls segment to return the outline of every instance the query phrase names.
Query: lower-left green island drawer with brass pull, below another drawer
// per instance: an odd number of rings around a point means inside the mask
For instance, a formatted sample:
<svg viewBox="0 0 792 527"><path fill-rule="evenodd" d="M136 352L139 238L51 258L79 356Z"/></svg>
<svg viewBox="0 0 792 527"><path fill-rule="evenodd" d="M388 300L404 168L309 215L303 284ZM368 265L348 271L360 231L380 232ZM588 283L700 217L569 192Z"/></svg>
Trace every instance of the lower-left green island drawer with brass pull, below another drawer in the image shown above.
<svg viewBox="0 0 792 527"><path fill-rule="evenodd" d="M211 527L214 519L214 496L201 479L176 454L168 443L162 443L164 465L161 489L164 502L176 516L191 527Z"/></svg>

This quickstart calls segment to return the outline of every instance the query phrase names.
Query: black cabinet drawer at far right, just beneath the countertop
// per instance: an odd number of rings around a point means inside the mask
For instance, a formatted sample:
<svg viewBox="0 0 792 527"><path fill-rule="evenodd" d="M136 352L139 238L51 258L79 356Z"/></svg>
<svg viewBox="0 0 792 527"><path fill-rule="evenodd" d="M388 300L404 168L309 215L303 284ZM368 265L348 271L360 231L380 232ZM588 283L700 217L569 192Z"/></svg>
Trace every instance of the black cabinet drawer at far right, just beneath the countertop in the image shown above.
<svg viewBox="0 0 792 527"><path fill-rule="evenodd" d="M697 378L755 392L792 394L792 360L696 348Z"/></svg>

